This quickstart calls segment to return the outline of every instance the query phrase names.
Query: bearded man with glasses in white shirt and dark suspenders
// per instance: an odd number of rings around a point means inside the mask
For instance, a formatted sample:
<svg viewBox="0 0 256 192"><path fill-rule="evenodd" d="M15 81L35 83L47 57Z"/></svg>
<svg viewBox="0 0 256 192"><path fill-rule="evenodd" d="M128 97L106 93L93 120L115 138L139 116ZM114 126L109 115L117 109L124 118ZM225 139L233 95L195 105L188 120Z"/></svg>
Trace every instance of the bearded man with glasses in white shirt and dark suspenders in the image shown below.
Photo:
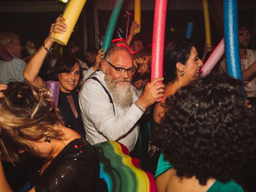
<svg viewBox="0 0 256 192"><path fill-rule="evenodd" d="M101 62L102 70L84 82L79 104L90 144L118 141L131 152L139 135L138 120L164 96L163 78L150 82L144 92L131 84L136 73L128 46L112 45Z"/></svg>

